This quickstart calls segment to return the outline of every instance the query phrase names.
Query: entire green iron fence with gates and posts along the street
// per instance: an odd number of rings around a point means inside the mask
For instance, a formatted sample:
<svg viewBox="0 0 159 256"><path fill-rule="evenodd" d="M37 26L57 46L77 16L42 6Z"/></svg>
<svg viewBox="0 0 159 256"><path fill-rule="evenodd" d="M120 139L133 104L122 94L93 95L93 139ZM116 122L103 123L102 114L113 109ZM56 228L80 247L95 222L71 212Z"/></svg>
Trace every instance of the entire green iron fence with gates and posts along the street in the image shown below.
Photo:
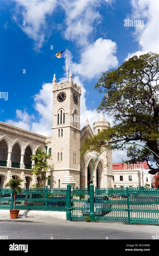
<svg viewBox="0 0 159 256"><path fill-rule="evenodd" d="M13 209L13 191L0 188L0 209ZM66 211L67 220L159 224L159 190L144 188L46 188L22 189L15 208Z"/></svg>

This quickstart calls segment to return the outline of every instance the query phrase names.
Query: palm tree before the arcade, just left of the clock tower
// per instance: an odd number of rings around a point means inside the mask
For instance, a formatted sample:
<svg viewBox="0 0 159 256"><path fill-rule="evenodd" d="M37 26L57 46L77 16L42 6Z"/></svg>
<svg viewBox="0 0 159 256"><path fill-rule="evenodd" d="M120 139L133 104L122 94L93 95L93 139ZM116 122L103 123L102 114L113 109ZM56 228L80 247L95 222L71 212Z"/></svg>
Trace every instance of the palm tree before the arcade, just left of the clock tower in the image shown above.
<svg viewBox="0 0 159 256"><path fill-rule="evenodd" d="M44 187L46 178L46 172L51 168L51 165L48 164L50 157L50 153L46 154L41 148L38 149L35 155L31 155L31 160L35 161L35 164L32 169L32 173L35 173L38 179L38 187Z"/></svg>

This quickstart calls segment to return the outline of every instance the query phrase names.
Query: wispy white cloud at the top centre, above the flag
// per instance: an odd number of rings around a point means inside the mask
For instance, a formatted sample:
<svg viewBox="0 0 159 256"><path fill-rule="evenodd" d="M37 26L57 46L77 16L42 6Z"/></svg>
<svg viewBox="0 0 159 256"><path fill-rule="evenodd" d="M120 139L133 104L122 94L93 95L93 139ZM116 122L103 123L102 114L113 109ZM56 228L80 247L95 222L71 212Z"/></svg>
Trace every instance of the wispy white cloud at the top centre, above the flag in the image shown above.
<svg viewBox="0 0 159 256"><path fill-rule="evenodd" d="M61 0L60 3L66 15L64 37L69 41L75 41L78 46L87 45L88 37L102 20L97 10L99 1Z"/></svg>

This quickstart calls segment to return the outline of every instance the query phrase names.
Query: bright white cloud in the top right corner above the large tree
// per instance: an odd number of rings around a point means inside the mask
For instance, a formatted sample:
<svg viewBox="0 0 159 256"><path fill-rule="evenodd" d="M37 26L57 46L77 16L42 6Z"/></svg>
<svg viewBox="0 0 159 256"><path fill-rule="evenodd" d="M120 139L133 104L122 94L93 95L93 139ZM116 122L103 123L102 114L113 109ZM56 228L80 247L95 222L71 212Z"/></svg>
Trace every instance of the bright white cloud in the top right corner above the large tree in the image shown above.
<svg viewBox="0 0 159 256"><path fill-rule="evenodd" d="M159 53L158 0L131 0L131 5L133 7L131 17L127 18L144 20L144 28L135 28L133 35L139 43L139 51L128 53L126 59L134 55L139 56L148 52Z"/></svg>

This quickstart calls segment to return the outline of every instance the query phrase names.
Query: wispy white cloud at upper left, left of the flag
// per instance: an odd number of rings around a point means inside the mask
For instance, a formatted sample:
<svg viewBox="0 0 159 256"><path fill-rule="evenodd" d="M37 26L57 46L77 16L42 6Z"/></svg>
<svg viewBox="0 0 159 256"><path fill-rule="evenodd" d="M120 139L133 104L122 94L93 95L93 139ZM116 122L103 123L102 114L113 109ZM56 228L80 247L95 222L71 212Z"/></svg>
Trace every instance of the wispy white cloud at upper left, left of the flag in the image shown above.
<svg viewBox="0 0 159 256"><path fill-rule="evenodd" d="M35 50L39 50L47 36L46 16L51 15L57 1L14 0L16 2L14 21L28 37L35 41ZM22 17L21 17L22 16ZM23 26L25 22L25 26Z"/></svg>

